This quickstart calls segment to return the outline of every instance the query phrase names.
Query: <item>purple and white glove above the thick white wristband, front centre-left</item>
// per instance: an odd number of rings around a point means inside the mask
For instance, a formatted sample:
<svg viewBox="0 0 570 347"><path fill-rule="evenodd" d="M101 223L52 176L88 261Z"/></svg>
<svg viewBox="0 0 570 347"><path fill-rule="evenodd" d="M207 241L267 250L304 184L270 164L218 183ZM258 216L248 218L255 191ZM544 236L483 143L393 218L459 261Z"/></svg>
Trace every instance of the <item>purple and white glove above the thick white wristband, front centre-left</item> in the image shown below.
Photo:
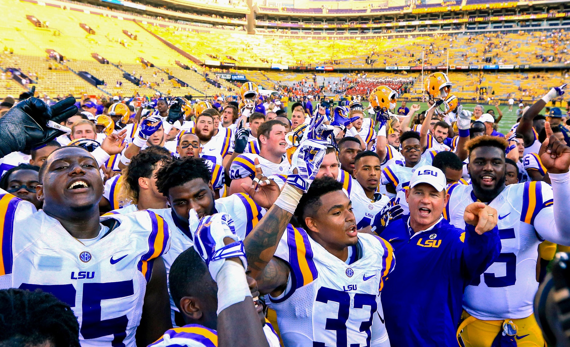
<svg viewBox="0 0 570 347"><path fill-rule="evenodd" d="M234 221L225 213L215 213L198 220L194 209L190 210L189 228L194 233L194 249L206 262L210 275L217 282L218 272L227 258L238 257L243 268L247 258L243 241L235 233ZM223 239L229 237L235 242L226 245Z"/></svg>

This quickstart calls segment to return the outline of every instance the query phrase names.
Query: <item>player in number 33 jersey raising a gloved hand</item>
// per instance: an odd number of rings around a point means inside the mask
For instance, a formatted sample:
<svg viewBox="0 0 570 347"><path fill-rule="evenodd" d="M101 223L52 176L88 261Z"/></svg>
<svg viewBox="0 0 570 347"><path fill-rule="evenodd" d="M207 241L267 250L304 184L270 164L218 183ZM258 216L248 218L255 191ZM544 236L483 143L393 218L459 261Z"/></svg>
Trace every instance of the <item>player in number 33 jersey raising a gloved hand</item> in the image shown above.
<svg viewBox="0 0 570 347"><path fill-rule="evenodd" d="M392 247L357 233L341 183L313 181L324 152L312 139L295 151L287 184L244 241L251 276L269 294L284 345L387 346L376 312L394 266ZM293 215L302 228L289 224Z"/></svg>

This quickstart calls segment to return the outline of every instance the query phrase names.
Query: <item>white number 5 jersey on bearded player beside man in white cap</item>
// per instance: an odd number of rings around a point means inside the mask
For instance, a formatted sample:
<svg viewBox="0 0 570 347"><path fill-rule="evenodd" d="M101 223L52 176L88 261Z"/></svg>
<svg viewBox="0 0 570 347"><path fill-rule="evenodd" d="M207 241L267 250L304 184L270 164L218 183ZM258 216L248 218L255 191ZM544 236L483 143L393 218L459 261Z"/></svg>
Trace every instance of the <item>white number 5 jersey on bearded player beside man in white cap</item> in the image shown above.
<svg viewBox="0 0 570 347"><path fill-rule="evenodd" d="M477 198L473 185L453 184L443 216L457 228L465 228L465 207ZM535 230L536 216L552 212L552 187L532 181L510 184L488 205L499 212L501 238L499 258L469 286L463 308L482 320L519 319L532 314L536 282L538 245L544 241Z"/></svg>

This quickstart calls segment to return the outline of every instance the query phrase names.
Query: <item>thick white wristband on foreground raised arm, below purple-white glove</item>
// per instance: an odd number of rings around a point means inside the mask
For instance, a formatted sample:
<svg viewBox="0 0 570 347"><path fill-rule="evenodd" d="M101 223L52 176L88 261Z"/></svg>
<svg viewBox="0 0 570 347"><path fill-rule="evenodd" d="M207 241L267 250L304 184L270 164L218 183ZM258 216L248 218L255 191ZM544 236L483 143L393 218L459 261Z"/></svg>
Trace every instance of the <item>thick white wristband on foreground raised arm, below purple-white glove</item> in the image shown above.
<svg viewBox="0 0 570 347"><path fill-rule="evenodd" d="M223 309L241 303L247 296L251 296L245 269L237 262L226 259L215 282L218 284L218 315Z"/></svg>

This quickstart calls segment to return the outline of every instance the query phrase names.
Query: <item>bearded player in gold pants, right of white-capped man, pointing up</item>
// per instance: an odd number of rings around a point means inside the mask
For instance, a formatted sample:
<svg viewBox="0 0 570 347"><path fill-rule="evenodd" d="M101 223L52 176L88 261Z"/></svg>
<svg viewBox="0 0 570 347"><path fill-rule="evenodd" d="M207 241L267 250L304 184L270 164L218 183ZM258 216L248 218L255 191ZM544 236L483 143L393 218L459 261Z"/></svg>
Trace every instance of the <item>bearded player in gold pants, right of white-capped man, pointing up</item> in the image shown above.
<svg viewBox="0 0 570 347"><path fill-rule="evenodd" d="M536 324L532 301L538 288L536 259L544 239L570 244L568 184L570 148L552 135L540 147L552 187L541 181L505 185L506 139L483 135L467 143L471 185L453 184L444 216L463 228L463 212L473 201L499 211L502 250L498 261L465 289L463 323L458 329L466 346L490 346L507 336L518 344L544 346ZM556 206L556 208L555 208Z"/></svg>

